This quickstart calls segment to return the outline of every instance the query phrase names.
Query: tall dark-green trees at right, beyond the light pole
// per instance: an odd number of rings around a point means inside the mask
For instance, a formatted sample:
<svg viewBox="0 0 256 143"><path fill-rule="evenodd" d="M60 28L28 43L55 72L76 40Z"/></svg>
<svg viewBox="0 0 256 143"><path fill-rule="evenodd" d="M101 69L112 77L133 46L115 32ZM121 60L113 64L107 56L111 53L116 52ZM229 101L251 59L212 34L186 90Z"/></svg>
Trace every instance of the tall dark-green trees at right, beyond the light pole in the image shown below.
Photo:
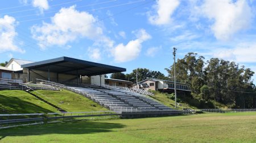
<svg viewBox="0 0 256 143"><path fill-rule="evenodd" d="M174 79L174 64L168 71L168 78ZM205 101L216 100L231 108L254 108L255 85L250 68L228 60L205 58L188 53L176 62L176 78L190 85L192 96Z"/></svg>

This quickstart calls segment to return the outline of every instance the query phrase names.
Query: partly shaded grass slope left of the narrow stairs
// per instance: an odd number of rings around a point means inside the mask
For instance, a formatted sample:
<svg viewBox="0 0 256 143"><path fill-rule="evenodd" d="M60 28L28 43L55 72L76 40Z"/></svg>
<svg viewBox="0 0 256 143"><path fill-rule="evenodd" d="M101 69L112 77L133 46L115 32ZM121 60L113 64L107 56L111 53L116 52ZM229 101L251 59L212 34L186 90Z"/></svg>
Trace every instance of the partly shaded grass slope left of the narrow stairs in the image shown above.
<svg viewBox="0 0 256 143"><path fill-rule="evenodd" d="M0 90L0 114L36 112L57 110L22 90Z"/></svg>

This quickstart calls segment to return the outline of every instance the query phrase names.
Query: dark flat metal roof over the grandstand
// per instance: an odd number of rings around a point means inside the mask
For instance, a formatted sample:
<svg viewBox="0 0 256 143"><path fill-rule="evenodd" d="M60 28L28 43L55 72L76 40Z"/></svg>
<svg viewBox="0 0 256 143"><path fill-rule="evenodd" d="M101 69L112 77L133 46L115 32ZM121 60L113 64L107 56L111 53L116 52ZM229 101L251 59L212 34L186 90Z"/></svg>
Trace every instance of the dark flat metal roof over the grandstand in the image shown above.
<svg viewBox="0 0 256 143"><path fill-rule="evenodd" d="M43 60L40 62L22 64L22 68L30 70L49 71L65 73L69 75L94 76L114 72L124 72L125 68L109 66L101 63L89 62L86 60L60 57L55 59Z"/></svg>

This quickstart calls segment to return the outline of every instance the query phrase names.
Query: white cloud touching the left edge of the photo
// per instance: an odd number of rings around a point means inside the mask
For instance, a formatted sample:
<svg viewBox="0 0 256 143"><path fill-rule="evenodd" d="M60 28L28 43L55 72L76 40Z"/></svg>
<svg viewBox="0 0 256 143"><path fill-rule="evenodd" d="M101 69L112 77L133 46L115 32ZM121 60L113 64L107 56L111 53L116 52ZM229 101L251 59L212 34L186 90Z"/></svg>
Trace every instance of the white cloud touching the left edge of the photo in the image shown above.
<svg viewBox="0 0 256 143"><path fill-rule="evenodd" d="M5 51L25 52L15 45L14 42L15 36L18 35L15 32L15 26L17 24L16 20L11 16L5 15L3 18L0 18L0 53Z"/></svg>

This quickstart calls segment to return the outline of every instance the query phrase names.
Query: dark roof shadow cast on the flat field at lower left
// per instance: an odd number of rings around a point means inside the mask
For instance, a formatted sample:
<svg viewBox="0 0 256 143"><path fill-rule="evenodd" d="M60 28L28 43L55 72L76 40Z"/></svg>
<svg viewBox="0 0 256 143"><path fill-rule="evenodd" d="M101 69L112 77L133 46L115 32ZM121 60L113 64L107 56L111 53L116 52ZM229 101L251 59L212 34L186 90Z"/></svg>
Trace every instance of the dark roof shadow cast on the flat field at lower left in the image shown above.
<svg viewBox="0 0 256 143"><path fill-rule="evenodd" d="M16 127L3 129L0 132L0 140L7 136L30 136L49 134L89 134L99 132L112 132L115 128L124 128L125 125L119 123L105 122L69 122L69 123L48 123L42 125L31 125L28 127Z"/></svg>

